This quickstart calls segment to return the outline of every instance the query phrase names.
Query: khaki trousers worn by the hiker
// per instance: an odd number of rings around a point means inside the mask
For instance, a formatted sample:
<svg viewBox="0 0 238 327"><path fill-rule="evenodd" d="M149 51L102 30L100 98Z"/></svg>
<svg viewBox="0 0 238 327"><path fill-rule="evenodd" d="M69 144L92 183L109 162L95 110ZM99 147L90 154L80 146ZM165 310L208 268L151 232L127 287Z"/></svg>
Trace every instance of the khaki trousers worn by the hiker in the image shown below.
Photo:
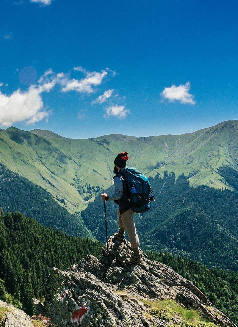
<svg viewBox="0 0 238 327"><path fill-rule="evenodd" d="M117 216L118 216L118 224L120 230L125 230L127 231L127 234L129 236L129 240L131 243L131 247L133 249L138 249L140 242L139 242L139 237L136 231L136 225L133 219L133 215L135 214L135 211L132 209L128 209L125 211L123 214L120 215L119 209L117 210Z"/></svg>

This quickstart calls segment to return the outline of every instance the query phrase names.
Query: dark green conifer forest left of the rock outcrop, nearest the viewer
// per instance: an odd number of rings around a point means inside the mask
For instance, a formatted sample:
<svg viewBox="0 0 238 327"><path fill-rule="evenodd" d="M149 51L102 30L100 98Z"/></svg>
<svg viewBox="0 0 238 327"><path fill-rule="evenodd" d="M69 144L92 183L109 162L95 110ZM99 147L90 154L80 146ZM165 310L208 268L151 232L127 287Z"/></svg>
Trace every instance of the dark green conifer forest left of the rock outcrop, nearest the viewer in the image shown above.
<svg viewBox="0 0 238 327"><path fill-rule="evenodd" d="M0 300L34 314L52 267L65 269L84 255L98 257L102 244L42 227L19 212L0 211Z"/></svg>

